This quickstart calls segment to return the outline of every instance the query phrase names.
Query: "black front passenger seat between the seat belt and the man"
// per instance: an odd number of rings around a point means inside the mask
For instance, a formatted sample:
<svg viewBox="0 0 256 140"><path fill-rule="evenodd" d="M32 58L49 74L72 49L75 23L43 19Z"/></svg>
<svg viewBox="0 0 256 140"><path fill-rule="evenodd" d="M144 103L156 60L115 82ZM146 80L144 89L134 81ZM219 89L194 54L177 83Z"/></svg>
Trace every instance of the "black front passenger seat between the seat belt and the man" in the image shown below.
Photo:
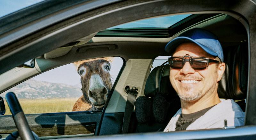
<svg viewBox="0 0 256 140"><path fill-rule="evenodd" d="M180 109L180 98L169 80L169 65L158 66L149 74L144 94L135 102L136 132L163 131Z"/></svg>

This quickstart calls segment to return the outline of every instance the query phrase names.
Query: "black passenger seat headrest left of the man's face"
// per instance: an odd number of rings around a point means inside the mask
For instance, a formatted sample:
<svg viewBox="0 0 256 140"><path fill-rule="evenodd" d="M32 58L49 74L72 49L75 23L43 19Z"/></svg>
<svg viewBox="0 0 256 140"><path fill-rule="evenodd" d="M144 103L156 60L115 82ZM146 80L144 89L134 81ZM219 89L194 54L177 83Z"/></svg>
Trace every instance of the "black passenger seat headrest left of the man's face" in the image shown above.
<svg viewBox="0 0 256 140"><path fill-rule="evenodd" d="M158 66L152 70L145 85L146 97L154 97L156 94L168 95L174 90L169 80L170 66Z"/></svg>

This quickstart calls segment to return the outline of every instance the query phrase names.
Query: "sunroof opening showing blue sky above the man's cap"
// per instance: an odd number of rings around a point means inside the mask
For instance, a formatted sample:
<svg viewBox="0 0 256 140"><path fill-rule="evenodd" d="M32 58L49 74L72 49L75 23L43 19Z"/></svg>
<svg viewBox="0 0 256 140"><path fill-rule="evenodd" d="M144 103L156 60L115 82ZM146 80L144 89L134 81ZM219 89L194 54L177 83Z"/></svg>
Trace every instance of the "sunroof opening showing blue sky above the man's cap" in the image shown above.
<svg viewBox="0 0 256 140"><path fill-rule="evenodd" d="M191 14L164 16L164 17L153 17L149 19L137 20L125 24L120 24L108 29L116 28L168 28L180 20L190 16Z"/></svg>

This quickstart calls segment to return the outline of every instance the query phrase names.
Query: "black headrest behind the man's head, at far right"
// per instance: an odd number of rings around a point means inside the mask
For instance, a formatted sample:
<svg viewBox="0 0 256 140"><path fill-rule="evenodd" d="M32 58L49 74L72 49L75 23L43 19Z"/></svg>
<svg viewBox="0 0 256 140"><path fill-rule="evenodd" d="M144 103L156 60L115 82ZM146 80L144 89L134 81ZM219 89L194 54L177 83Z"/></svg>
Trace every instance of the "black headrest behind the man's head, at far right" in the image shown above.
<svg viewBox="0 0 256 140"><path fill-rule="evenodd" d="M226 70L219 82L220 98L243 100L246 98L248 76L248 44L244 43L234 49L226 48L224 60Z"/></svg>

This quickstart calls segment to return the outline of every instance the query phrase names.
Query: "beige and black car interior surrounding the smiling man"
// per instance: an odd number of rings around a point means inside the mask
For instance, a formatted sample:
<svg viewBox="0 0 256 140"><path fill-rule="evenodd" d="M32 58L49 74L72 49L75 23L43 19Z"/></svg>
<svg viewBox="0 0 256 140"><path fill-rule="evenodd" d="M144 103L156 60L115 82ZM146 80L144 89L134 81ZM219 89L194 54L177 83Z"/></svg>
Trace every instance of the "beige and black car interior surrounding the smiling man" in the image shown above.
<svg viewBox="0 0 256 140"><path fill-rule="evenodd" d="M152 67L152 63L158 56L170 56L164 51L165 45L193 28L211 31L220 40L226 70L219 82L218 95L221 99L235 100L245 112L249 70L248 34L238 19L223 13L191 14L168 28L157 30L118 28L92 33L37 56L33 68L14 67L0 74L0 93L65 64L118 56L124 64L102 110L27 114L31 130L40 139L122 134L127 100L125 87L129 86L137 87L138 95L128 133L162 132L180 109L180 99L170 84L170 66L163 63ZM11 115L0 116L0 139L16 130Z"/></svg>

